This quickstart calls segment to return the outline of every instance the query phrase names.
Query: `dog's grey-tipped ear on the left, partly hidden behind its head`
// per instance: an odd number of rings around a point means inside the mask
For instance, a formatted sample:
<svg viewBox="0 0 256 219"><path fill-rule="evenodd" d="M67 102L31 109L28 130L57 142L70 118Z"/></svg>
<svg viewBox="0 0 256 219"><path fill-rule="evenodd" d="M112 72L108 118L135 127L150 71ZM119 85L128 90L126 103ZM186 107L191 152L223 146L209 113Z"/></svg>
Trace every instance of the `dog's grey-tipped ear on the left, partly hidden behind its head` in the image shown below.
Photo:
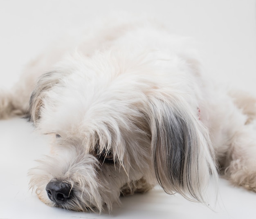
<svg viewBox="0 0 256 219"><path fill-rule="evenodd" d="M34 124L40 119L45 94L60 81L60 74L56 71L45 73L39 77L29 100L29 120Z"/></svg>

